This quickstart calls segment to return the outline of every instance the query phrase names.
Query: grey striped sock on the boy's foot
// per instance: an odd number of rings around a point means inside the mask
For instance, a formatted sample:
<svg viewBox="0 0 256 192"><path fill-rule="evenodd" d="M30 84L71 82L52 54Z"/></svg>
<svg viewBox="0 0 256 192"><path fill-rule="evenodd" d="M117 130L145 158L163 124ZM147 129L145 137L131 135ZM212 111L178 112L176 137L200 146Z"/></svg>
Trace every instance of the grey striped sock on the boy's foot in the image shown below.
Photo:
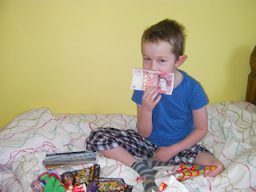
<svg viewBox="0 0 256 192"><path fill-rule="evenodd" d="M134 162L131 168L136 170L140 176L146 177L146 181L142 183L145 192L152 192L152 190L158 191L158 186L154 182L154 176L158 172L157 170L150 169L142 161Z"/></svg>

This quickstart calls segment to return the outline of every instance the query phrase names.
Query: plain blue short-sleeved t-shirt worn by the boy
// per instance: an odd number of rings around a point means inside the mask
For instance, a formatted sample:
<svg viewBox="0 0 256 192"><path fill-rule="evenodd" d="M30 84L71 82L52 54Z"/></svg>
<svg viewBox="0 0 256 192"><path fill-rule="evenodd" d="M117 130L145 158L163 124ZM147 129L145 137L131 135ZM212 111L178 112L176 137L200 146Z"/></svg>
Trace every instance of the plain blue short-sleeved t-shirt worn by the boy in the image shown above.
<svg viewBox="0 0 256 192"><path fill-rule="evenodd" d="M192 110L198 110L208 103L202 86L184 71L180 85L172 95L162 94L162 99L153 110L153 130L148 138L157 146L171 146L182 141L192 130ZM144 91L134 90L132 100L142 105Z"/></svg>

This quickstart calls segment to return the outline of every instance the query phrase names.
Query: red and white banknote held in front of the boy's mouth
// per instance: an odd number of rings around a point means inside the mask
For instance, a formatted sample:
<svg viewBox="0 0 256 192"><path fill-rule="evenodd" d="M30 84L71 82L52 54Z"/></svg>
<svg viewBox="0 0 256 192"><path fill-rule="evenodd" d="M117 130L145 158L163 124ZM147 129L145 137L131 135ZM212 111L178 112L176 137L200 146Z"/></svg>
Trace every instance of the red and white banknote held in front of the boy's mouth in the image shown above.
<svg viewBox="0 0 256 192"><path fill-rule="evenodd" d="M158 86L159 93L172 94L174 74L153 70L133 69L131 90L146 90L149 86Z"/></svg>

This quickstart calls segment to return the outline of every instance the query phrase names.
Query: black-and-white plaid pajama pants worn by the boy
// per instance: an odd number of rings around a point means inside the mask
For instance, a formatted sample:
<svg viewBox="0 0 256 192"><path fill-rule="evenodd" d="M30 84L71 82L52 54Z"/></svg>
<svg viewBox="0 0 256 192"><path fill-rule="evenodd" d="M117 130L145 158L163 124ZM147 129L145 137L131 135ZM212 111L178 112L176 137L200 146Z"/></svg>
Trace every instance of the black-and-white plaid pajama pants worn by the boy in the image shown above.
<svg viewBox="0 0 256 192"><path fill-rule="evenodd" d="M92 130L86 140L87 150L110 150L117 146L122 146L137 158L150 158L159 148L148 139L142 138L135 130L118 130L111 127ZM195 145L178 153L170 162L174 165L182 162L194 164L195 158L201 152L210 153L205 146Z"/></svg>

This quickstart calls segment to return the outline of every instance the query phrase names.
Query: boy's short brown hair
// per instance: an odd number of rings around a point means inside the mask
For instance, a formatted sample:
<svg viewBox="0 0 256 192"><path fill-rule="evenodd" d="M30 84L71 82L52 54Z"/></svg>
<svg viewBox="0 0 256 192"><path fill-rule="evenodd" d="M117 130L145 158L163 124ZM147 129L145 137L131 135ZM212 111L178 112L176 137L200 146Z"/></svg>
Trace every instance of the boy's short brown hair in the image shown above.
<svg viewBox="0 0 256 192"><path fill-rule="evenodd" d="M183 54L184 30L185 27L178 22L165 19L146 29L142 34L142 42L169 42L173 46L174 55L178 59Z"/></svg>

